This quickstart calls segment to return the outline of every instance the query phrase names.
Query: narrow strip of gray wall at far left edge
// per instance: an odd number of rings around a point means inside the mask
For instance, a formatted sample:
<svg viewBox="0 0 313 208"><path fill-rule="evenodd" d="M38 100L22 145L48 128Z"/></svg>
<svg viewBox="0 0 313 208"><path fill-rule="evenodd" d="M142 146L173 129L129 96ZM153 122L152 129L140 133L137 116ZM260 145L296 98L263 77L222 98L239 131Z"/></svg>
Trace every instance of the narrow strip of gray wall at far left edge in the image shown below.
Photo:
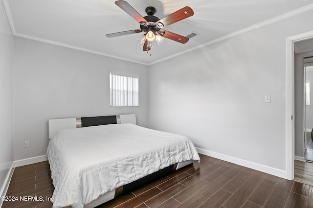
<svg viewBox="0 0 313 208"><path fill-rule="evenodd" d="M13 35L0 2L0 194L13 164ZM1 205L1 202L0 202Z"/></svg>

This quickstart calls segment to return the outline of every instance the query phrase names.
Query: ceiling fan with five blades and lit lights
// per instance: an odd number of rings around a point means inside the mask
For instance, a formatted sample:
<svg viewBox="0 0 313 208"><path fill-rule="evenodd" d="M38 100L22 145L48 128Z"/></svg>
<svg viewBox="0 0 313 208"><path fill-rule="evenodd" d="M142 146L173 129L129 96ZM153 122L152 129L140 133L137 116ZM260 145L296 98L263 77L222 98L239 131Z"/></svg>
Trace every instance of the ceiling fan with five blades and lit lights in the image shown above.
<svg viewBox="0 0 313 208"><path fill-rule="evenodd" d="M159 19L154 16L156 9L152 6L146 8L147 16L142 17L129 3L124 0L115 1L115 4L123 9L132 18L134 18L140 24L140 29L107 34L106 36L108 38L145 32L143 38L141 39L141 44L143 45L142 50L147 51L147 53L149 50L151 50L152 42L154 40L156 40L158 45L164 41L164 38L168 38L180 43L186 43L189 40L189 38L162 29L163 27L169 26L170 24L193 16L194 11L188 6L185 6L178 11L162 19Z"/></svg>

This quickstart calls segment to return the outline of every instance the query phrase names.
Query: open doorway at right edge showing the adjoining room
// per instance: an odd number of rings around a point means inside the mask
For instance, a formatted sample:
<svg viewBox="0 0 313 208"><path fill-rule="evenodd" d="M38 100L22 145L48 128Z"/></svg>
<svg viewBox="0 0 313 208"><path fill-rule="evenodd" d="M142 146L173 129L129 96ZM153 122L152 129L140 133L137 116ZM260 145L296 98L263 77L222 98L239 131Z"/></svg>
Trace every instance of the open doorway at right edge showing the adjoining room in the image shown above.
<svg viewBox="0 0 313 208"><path fill-rule="evenodd" d="M304 46L306 48L304 48ZM312 71L312 75L310 71ZM312 98L310 100L310 96L312 97L313 92L313 38L294 42L293 75L293 176L296 181L313 185L313 142L311 140L311 130L313 128L313 103L311 102Z"/></svg>

